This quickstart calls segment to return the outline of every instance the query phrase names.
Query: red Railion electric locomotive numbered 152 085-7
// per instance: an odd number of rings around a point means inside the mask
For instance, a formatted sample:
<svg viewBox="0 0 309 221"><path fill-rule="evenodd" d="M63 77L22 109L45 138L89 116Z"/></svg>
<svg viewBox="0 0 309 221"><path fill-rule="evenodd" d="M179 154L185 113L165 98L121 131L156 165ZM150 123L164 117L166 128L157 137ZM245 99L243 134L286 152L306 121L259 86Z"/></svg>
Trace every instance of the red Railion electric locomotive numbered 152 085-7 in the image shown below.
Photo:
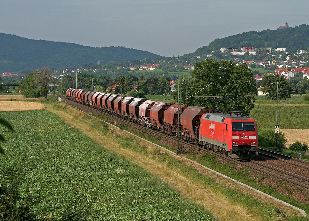
<svg viewBox="0 0 309 221"><path fill-rule="evenodd" d="M252 158L258 154L256 122L233 114L204 114L199 144L231 158Z"/></svg>

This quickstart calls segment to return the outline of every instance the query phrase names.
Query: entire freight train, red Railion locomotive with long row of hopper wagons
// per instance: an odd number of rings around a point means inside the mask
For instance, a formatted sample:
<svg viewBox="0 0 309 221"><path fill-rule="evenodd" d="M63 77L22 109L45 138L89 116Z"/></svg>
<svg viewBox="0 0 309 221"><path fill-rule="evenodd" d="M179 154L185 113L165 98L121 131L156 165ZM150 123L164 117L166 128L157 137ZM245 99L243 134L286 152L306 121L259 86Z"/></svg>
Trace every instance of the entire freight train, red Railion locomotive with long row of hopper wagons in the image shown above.
<svg viewBox="0 0 309 221"><path fill-rule="evenodd" d="M252 158L258 154L256 122L240 113L214 113L211 108L183 106L83 89L70 88L66 95L71 101L121 116L169 136L177 135L180 128L184 141L220 152L230 158Z"/></svg>

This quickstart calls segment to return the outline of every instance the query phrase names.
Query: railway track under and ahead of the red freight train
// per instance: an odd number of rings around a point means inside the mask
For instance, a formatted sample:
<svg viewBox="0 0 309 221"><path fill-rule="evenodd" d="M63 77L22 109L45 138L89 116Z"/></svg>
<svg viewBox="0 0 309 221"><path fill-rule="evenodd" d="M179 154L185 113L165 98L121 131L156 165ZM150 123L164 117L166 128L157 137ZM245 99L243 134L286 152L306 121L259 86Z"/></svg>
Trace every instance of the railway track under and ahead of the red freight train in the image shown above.
<svg viewBox="0 0 309 221"><path fill-rule="evenodd" d="M83 104L80 104L80 103L76 103L76 102L73 102L73 101L69 101L67 100L65 97L62 97L63 99L65 99L66 101L68 101L67 103L70 105L73 104L73 106L76 106L77 108L80 108L80 107L83 107L85 108L84 110L82 111L90 111L92 113L97 113L97 114L100 114L100 115L106 115L108 117L112 117L112 118L115 118L115 119L118 119L118 120L122 120L123 122L127 123L127 124L132 124L134 125L135 127L138 127L138 128L142 128L143 130L147 130L147 131L150 131L151 133L155 133L155 134L158 134L159 136L164 136L164 137L168 137L169 139L173 140L173 141L177 141L178 142L178 138L176 137L170 137L170 136L167 136L161 132L158 132L158 131L154 131L154 130L151 130L150 128L146 128L146 127L143 127L141 125L138 125L138 124L133 124L132 122L130 121L127 121L125 119L121 119L121 118L118 118L114 115L109 115L103 111L99 111L99 110L96 110L96 109L93 109L93 108L90 108L89 106L85 106ZM82 108L81 108L82 109ZM250 169L253 169L255 171L259 171L263 174L266 174L266 175L269 175L271 177L274 177L276 179L279 179L279 180L283 180L289 184L292 184L294 186L298 186L299 188L303 188L305 190L309 190L309 179L306 178L306 177L303 177L303 176L299 176L299 175L296 175L294 173L290 173L288 171L284 171L284 170L281 170L281 169L278 169L276 167L272 167L272 166L269 166L267 164L264 164L264 163L260 163L260 162L257 162L257 161L254 161L254 160L249 160L248 162L242 162L242 161L239 161L239 160L235 160L235 159L232 159L232 158L228 158L228 157L225 157L223 156L222 154L219 154L217 152L212 152L210 150L206 150L204 148L201 148L199 147L198 145L196 144L193 144L193 143L188 143L188 142L184 142L182 141L185 145L187 146L190 146L194 149L197 149L197 150L201 150L205 153L208 153L208 154L212 154L212 155L215 155L219 158L223 158L225 160L229 160L231 162L234 162L236 163L237 165L242 165L243 167L246 167L246 168L250 168ZM260 150L260 149L259 149ZM264 151L264 152L263 152ZM267 151L265 151L264 149L262 149L262 152L263 154L266 154ZM260 153L260 152L259 152ZM266 154L267 156L270 156L268 154ZM282 155L282 154L281 154ZM283 155L285 156L285 155ZM285 156L285 157L288 157L288 156ZM291 157L288 157L288 158L291 158ZM281 158L280 158L281 159ZM295 158L294 158L295 159ZM289 162L289 163L294 163L293 161L290 161L291 159L282 159L284 160L284 162ZM297 161L298 159L296 159ZM297 161L298 162L298 161ZM293 164L294 165L294 164ZM308 164L309 165L309 164ZM302 164L299 164L299 166L302 166L304 168L309 168L309 166L306 166L305 163Z"/></svg>

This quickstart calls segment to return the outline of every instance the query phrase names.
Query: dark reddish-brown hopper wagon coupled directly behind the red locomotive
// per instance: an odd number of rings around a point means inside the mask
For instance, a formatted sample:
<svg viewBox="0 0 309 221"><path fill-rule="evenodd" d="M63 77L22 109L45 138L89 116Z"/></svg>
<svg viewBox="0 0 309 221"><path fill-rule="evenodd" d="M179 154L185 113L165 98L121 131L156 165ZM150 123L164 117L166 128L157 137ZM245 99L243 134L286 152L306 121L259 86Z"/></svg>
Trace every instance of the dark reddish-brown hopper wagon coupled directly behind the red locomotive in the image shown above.
<svg viewBox="0 0 309 221"><path fill-rule="evenodd" d="M212 113L211 108L188 106L181 114L182 135L185 141L197 142L201 117L205 113Z"/></svg>

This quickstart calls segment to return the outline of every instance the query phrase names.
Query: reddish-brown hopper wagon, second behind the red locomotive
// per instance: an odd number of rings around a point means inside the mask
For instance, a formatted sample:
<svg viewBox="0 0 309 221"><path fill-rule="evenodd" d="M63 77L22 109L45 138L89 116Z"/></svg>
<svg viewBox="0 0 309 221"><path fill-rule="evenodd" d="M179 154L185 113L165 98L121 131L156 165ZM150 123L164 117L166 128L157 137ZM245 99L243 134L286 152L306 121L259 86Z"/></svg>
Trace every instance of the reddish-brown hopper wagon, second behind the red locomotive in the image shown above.
<svg viewBox="0 0 309 221"><path fill-rule="evenodd" d="M166 111L164 111L164 133L166 133L169 136L174 136L177 134L178 112L179 112L179 116L181 116L182 112L186 108L187 106L184 106L184 105L178 106L178 104L173 104Z"/></svg>

